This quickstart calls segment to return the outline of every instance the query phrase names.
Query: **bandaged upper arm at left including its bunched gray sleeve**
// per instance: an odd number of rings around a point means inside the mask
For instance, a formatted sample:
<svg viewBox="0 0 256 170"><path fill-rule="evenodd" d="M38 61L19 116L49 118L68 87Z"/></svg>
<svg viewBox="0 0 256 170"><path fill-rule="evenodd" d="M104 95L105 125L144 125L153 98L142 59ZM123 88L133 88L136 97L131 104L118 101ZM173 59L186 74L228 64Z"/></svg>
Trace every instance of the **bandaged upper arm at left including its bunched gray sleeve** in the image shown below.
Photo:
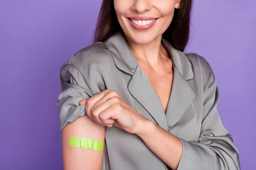
<svg viewBox="0 0 256 170"><path fill-rule="evenodd" d="M71 136L105 142L105 126L86 116L82 99L99 93L84 78L79 70L68 63L61 67L61 93L58 96L60 129L62 130L62 152L64 170L101 170L104 147L101 151L71 147Z"/></svg>

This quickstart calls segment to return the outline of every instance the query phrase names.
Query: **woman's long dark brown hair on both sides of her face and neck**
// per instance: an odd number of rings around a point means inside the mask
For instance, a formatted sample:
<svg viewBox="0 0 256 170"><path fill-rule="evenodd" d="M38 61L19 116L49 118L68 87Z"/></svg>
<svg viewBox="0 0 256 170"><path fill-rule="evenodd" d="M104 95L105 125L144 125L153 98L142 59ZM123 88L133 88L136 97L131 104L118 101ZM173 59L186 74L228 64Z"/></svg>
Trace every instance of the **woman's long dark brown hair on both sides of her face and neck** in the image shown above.
<svg viewBox="0 0 256 170"><path fill-rule="evenodd" d="M172 23L162 36L180 51L184 51L189 40L192 3L192 0L181 1L180 9L175 8ZM93 43L107 40L116 31L122 31L122 28L116 17L114 2L113 0L102 0Z"/></svg>

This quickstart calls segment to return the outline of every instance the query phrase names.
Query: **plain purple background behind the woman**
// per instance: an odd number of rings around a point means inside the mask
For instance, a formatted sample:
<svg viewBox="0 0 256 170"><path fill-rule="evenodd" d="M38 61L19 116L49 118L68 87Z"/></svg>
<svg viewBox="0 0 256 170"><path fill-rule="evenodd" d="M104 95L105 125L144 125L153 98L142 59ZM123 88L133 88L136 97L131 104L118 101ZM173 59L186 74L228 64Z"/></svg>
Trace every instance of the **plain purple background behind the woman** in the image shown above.
<svg viewBox="0 0 256 170"><path fill-rule="evenodd" d="M63 168L59 71L90 44L100 5L101 0L0 1L1 170ZM243 170L256 167L255 8L255 0L195 0L186 49L213 68L218 111Z"/></svg>

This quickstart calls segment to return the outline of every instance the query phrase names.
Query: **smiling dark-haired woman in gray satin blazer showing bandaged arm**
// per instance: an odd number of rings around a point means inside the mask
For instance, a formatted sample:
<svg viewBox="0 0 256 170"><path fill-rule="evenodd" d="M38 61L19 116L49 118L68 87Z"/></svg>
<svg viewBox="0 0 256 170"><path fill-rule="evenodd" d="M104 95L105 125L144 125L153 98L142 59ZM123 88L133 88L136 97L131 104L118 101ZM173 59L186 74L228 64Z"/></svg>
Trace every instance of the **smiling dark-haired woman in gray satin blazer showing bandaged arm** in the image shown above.
<svg viewBox="0 0 256 170"><path fill-rule="evenodd" d="M65 170L240 170L212 68L183 52L191 6L103 0L95 43L61 68ZM71 136L104 148L72 147Z"/></svg>

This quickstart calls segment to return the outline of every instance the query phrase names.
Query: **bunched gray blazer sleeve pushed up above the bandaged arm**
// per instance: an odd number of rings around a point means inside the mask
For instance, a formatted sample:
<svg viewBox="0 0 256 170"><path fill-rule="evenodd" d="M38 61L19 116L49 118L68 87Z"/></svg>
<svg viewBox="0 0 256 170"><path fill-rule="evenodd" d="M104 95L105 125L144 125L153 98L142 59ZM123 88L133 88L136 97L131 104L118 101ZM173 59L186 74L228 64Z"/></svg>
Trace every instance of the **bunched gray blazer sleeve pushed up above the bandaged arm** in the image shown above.
<svg viewBox="0 0 256 170"><path fill-rule="evenodd" d="M58 96L60 129L85 115L85 105L80 100L89 99L98 92L73 65L65 63L60 71L61 93Z"/></svg>

